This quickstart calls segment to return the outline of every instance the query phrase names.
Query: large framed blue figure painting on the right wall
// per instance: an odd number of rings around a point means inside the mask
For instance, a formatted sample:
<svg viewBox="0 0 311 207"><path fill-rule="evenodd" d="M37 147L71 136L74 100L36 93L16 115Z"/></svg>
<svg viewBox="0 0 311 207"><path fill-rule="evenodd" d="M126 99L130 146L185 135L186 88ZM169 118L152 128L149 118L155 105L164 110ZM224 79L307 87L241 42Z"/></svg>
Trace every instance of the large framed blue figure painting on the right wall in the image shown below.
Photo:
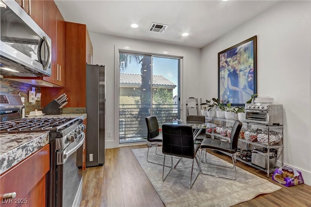
<svg viewBox="0 0 311 207"><path fill-rule="evenodd" d="M257 94L257 36L218 53L218 98L244 106Z"/></svg>

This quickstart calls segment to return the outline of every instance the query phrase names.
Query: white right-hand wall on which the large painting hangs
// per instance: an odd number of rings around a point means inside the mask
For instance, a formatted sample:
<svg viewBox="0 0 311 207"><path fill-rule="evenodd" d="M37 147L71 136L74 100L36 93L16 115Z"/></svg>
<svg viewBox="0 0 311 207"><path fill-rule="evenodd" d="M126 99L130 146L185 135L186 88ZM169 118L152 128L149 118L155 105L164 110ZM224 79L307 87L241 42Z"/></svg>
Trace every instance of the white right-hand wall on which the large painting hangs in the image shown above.
<svg viewBox="0 0 311 207"><path fill-rule="evenodd" d="M284 108L284 164L311 185L311 1L284 1L202 48L202 97L217 97L218 52L257 35L259 96Z"/></svg>

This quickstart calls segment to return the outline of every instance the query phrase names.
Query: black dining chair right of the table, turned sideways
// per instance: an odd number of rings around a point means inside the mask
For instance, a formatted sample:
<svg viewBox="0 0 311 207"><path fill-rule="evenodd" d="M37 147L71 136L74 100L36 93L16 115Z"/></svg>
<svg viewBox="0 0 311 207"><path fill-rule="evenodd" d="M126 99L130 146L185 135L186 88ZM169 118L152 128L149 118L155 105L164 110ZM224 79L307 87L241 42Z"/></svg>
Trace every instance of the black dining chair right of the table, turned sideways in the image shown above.
<svg viewBox="0 0 311 207"><path fill-rule="evenodd" d="M235 178L233 179L233 178L218 176L218 175L212 175L212 176L223 177L223 178L231 179L231 180L237 179L237 169L235 166L234 154L237 152L237 149L238 149L239 134L240 134L241 128L242 128L242 122L236 120L234 122L234 125L233 125L232 130L231 130L230 143L224 142L224 141L221 141L218 139L212 139L212 138L205 138L203 140L203 142L201 143L202 151L201 151L201 155L200 155L200 161L202 161L202 152L206 149L217 150L217 151L225 152L225 153L231 155L233 166L228 167L228 168L231 168L231 169L234 168ZM200 164L201 164L201 162L200 162ZM218 165L216 163L207 163L207 164L217 165L217 166L221 166L221 167L227 167L227 166L223 166L223 165ZM201 171L201 173L204 175L210 175L210 174L204 173L202 171Z"/></svg>

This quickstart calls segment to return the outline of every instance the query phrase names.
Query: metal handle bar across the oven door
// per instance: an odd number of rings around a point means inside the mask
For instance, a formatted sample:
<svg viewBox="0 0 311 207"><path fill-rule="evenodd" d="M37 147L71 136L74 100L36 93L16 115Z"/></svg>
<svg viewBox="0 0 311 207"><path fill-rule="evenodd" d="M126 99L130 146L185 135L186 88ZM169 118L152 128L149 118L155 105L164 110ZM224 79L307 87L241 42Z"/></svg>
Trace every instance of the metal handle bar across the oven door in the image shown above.
<svg viewBox="0 0 311 207"><path fill-rule="evenodd" d="M77 142L69 145L64 150L60 150L56 152L56 165L62 165L66 162L67 158L72 155L75 151L79 149L79 147L84 143L85 133L81 133L80 139L77 139Z"/></svg>

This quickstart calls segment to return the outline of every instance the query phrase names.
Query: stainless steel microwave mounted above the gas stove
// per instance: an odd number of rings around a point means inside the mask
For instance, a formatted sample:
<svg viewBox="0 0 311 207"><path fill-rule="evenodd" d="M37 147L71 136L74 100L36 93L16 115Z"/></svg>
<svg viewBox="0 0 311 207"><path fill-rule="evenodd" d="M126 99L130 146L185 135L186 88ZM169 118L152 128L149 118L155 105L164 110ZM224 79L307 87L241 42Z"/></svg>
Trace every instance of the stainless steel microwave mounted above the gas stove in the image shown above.
<svg viewBox="0 0 311 207"><path fill-rule="evenodd" d="M15 0L0 0L0 74L51 76L51 38Z"/></svg>

